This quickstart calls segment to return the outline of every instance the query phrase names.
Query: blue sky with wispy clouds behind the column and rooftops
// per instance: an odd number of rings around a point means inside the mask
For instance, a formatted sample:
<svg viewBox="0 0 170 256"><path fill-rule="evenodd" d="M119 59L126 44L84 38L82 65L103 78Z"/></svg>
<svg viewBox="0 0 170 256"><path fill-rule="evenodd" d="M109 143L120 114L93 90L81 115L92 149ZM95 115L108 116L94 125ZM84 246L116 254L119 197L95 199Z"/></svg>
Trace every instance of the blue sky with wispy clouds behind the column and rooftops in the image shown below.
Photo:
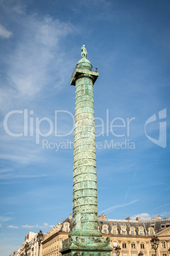
<svg viewBox="0 0 170 256"><path fill-rule="evenodd" d="M98 213L170 217L169 9L167 0L0 1L1 256L72 213L70 80L83 44L99 72Z"/></svg>

